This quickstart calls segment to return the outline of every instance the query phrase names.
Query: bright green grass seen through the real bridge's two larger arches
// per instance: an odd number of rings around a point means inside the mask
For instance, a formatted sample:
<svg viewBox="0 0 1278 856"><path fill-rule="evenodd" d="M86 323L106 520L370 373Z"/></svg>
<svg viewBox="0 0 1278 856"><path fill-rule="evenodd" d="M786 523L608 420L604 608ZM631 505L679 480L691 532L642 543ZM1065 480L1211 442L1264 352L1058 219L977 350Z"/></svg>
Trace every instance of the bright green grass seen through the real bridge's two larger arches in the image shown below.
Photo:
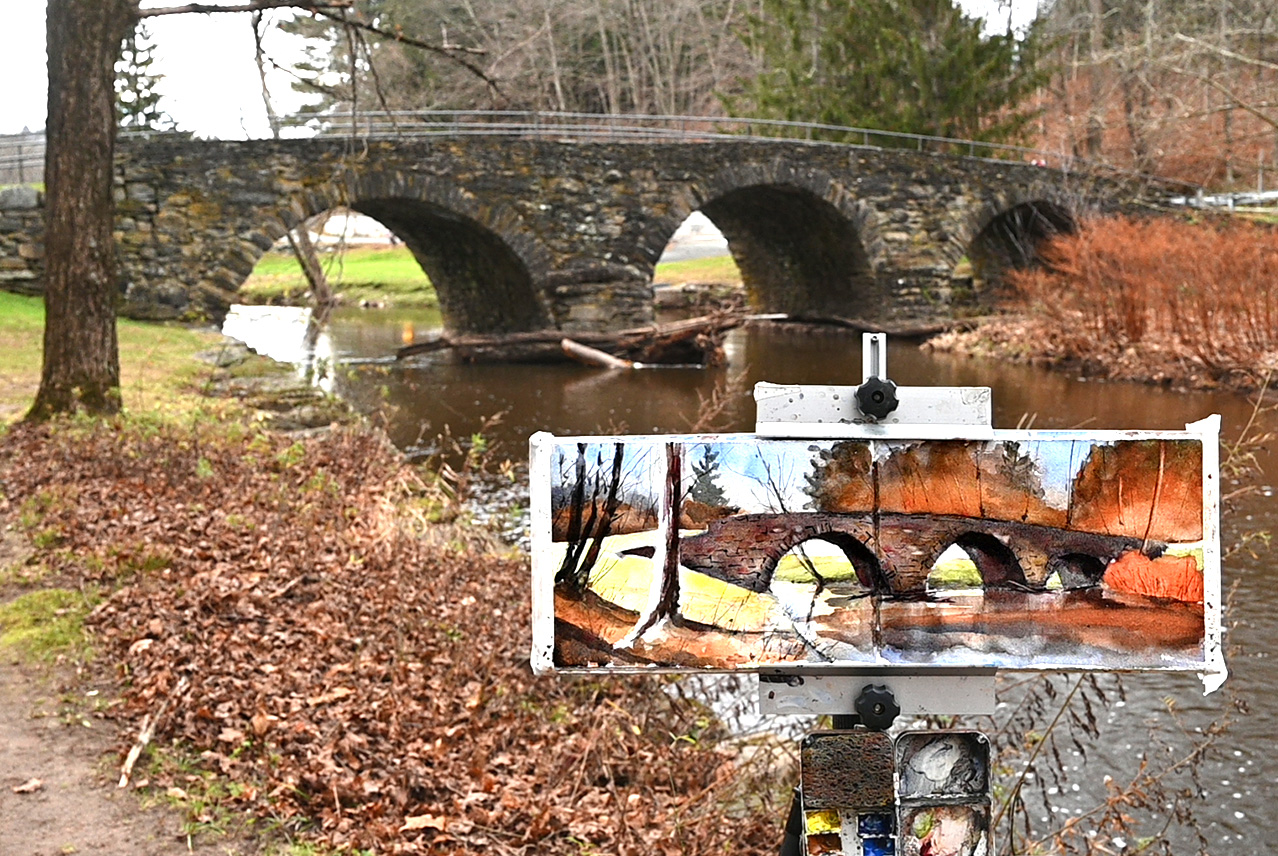
<svg viewBox="0 0 1278 856"><path fill-rule="evenodd" d="M431 280L406 247L351 247L340 256L328 253L325 268L334 291L346 303L378 300L396 307L438 305ZM731 256L693 258L658 264L658 285L688 282L740 282ZM290 252L270 252L258 261L240 289L245 303L302 300L307 280Z"/></svg>

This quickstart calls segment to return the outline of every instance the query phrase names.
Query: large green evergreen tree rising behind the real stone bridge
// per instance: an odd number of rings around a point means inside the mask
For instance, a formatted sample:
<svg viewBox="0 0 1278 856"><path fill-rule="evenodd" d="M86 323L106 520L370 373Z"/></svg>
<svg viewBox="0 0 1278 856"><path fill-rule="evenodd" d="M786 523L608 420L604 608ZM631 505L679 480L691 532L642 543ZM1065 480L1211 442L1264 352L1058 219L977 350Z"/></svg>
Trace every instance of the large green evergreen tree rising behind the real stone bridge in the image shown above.
<svg viewBox="0 0 1278 856"><path fill-rule="evenodd" d="M763 70L731 107L768 119L1006 142L1044 79L1034 31L984 36L952 0L762 0L746 41Z"/></svg>

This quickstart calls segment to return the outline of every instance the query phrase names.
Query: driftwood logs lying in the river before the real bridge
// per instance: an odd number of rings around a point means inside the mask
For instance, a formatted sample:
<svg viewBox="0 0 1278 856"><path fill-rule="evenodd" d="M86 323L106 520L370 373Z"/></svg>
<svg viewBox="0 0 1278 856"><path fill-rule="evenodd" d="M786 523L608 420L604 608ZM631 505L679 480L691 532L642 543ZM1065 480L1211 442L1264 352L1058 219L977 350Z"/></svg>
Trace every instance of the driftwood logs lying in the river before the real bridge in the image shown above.
<svg viewBox="0 0 1278 856"><path fill-rule="evenodd" d="M720 313L670 325L619 332L575 332L573 341L621 360L657 364L713 365L723 359L723 336L744 321L740 313ZM534 330L492 336L449 335L400 348L395 356L451 349L465 362L557 363L567 359L561 330Z"/></svg>

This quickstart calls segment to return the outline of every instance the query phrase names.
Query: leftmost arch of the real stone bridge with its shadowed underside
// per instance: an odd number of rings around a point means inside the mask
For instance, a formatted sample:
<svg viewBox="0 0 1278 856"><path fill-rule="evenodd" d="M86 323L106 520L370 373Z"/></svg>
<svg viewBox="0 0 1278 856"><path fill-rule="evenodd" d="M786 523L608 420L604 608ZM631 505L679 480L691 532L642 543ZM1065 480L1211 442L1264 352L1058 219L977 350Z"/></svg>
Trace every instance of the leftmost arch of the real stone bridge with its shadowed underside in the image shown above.
<svg viewBox="0 0 1278 856"><path fill-rule="evenodd" d="M507 204L484 204L452 183L403 172L349 172L299 192L277 221L252 239L258 256L286 229L323 211L346 207L390 229L431 277L443 326L452 332L495 333L552 326L538 273L544 252ZM256 261L256 259L254 259Z"/></svg>

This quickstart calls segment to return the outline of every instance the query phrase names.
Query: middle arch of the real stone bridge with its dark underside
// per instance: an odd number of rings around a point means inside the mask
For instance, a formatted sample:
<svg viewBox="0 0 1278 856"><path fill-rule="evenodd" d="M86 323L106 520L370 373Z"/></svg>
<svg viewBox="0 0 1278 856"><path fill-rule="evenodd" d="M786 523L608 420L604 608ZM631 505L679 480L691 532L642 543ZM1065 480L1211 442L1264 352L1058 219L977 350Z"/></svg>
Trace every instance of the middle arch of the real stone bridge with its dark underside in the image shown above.
<svg viewBox="0 0 1278 856"><path fill-rule="evenodd" d="M863 238L872 210L826 172L782 162L725 167L676 194L651 226L651 252L659 256L693 211L723 233L758 310L860 316L875 299Z"/></svg>

